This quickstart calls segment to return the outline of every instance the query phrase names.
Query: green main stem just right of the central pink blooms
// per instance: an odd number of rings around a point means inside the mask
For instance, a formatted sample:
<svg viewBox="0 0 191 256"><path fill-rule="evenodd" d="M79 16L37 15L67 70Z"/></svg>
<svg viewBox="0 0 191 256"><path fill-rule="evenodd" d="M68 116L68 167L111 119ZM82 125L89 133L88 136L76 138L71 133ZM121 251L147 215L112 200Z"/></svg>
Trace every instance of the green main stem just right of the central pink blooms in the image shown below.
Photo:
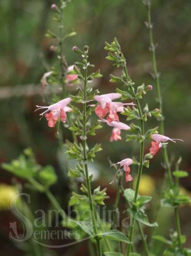
<svg viewBox="0 0 191 256"><path fill-rule="evenodd" d="M127 71L127 66L126 63L124 65L124 72L125 72L125 77L126 77L126 82L128 83L129 80L129 75L128 75L128 71ZM131 94L133 96L133 98L135 99L135 102L138 106L138 111L139 111L139 116L140 116L140 125L141 125L141 136L144 136L144 120L143 120L143 114L142 114L142 110L141 110L141 104L139 99L137 98L137 96L134 93L133 87L130 85L130 91ZM134 202L137 202L138 199L138 192L139 192L139 184L140 184L140 180L141 180L141 175L142 175L142 171L143 171L143 161L144 161L144 139L141 142L141 148L140 148L140 162L139 162L139 167L138 167L138 178L137 178L137 184L136 184L136 188L135 188L135 194L134 194ZM130 232L129 232L129 241L132 241L132 236L133 236L133 229L134 229L134 217L131 218L131 223L130 223ZM143 238L143 243L145 245L146 240L144 239L144 234L143 234L143 230L141 233L141 236ZM131 243L129 243L128 248L127 248L127 252L126 252L126 256L129 256L129 253L131 252ZM147 253L148 251L148 247L145 247L145 251ZM148 253L147 253L148 255Z"/></svg>

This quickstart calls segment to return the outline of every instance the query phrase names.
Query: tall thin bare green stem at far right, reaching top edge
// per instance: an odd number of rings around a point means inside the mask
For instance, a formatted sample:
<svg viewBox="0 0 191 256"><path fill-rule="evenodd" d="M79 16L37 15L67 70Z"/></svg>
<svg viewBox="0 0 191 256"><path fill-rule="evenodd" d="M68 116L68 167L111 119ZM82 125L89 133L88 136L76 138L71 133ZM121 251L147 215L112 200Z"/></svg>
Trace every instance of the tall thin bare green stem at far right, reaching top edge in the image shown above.
<svg viewBox="0 0 191 256"><path fill-rule="evenodd" d="M162 117L159 118L159 128L160 128L160 133L162 135L165 135L165 125L164 125L164 118L163 118L163 104L162 104L162 95L161 95L161 89L160 89L160 77L159 77L158 68L157 68L155 44L154 44L154 40L153 40L153 25L152 25L152 20L151 20L151 4L150 3L146 4L146 11L147 11L147 27L149 29L150 50L152 53L153 70L154 70L154 76L156 79L159 107L161 109L161 115L162 115ZM168 151L167 151L166 145L163 145L162 153L163 153L163 161L165 162L165 167L166 167L166 171L167 171L169 187L172 189L174 187L174 181L172 179L171 166L170 166L170 162L169 162L169 156L168 156ZM174 215L175 215L175 220L176 220L176 230L178 231L179 247L182 249L181 225L180 225L180 216L179 216L178 207L174 208Z"/></svg>

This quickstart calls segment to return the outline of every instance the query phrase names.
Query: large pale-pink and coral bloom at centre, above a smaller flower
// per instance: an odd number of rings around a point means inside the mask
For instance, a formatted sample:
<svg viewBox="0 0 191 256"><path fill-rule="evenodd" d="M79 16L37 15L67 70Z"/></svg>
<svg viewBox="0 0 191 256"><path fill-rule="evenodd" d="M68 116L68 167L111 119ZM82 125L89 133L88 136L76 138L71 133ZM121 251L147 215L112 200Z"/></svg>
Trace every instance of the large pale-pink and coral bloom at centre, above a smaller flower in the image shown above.
<svg viewBox="0 0 191 256"><path fill-rule="evenodd" d="M119 121L117 112L123 112L124 105L134 105L133 103L112 102L112 100L118 99L119 97L121 97L120 93L108 93L94 96L94 100L100 103L95 109L97 116L103 119L108 114L108 122Z"/></svg>

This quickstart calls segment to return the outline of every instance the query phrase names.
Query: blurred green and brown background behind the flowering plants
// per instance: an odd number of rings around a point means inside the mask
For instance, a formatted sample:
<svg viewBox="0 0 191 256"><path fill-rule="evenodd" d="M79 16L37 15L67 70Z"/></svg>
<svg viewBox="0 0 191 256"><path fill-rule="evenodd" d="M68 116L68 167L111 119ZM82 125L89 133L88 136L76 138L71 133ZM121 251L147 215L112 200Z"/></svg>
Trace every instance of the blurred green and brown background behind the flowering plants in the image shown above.
<svg viewBox="0 0 191 256"><path fill-rule="evenodd" d="M154 40L158 43L157 63L161 73L166 135L184 140L184 143L169 145L171 159L173 161L182 155L181 167L191 173L191 2L189 0L153 0L152 2ZM39 121L38 113L34 113L36 104L43 105L40 79L48 66L55 61L55 55L49 50L52 40L44 36L49 28L53 31L57 30L57 23L52 21L53 12L50 10L52 3L50 0L1 0L0 2L0 162L8 162L16 158L26 147L31 147L39 164L52 164L56 168L60 179L59 186L53 190L58 198L66 203L70 197L70 190L58 154L56 132L47 128L46 120ZM109 75L111 72L117 74L118 71L105 59L107 53L103 47L104 41L111 42L116 36L127 57L131 78L137 84L145 82L153 85L154 93L148 93L145 100L151 108L156 107L154 97L156 86L150 75L152 63L148 51L149 41L145 20L146 10L141 0L71 1L65 9L64 29L66 32L74 30L77 35L65 41L64 53L67 62L72 65L78 60L78 55L72 51L74 45L83 47L88 44L91 63L100 68L101 74L104 75L97 84L100 92L114 92L117 84L108 82ZM151 121L151 125L156 126L156 124L156 120ZM111 144L109 142L111 129L106 127L98 130L97 133L96 137L90 138L90 143L102 142L104 149L97 157L96 166L100 175L97 183L108 187L111 196L109 202L112 204L115 186L109 186L108 182L112 180L114 173L109 168L107 157L113 162L131 157L132 152L137 154L138 145L126 143L125 139ZM68 133L65 136L70 140ZM146 150L148 149L149 144ZM158 154L149 170L145 170L145 173L151 175L157 184L160 184L163 177L161 161L161 154ZM1 170L0 178L1 183L11 183L11 175L4 170ZM191 192L190 181L191 176L183 179L181 184L188 193ZM156 186L156 189L159 188L159 185ZM64 199L62 194L66 194ZM41 196L36 199L36 204L40 199ZM183 233L188 236L188 246L191 239L191 222L187 216L190 213L189 206L181 209ZM10 219L11 216L7 212L0 212L1 248L4 254L6 252L21 255L21 251L8 240ZM173 226L173 218L171 224ZM58 253L62 255L64 252Z"/></svg>

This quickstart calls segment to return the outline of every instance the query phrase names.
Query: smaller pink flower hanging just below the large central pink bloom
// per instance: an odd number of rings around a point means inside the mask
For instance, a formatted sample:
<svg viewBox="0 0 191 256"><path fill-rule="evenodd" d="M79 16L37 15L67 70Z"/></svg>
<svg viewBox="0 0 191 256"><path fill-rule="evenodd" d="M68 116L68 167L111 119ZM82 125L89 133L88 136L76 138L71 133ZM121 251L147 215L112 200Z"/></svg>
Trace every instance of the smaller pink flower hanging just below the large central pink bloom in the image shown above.
<svg viewBox="0 0 191 256"><path fill-rule="evenodd" d="M121 130L129 130L130 127L124 123L118 122L118 121L107 121L107 120L100 120L103 121L105 123L107 123L108 126L112 126L114 127L112 130L112 136L110 138L110 141L117 141L117 140L121 140Z"/></svg>

